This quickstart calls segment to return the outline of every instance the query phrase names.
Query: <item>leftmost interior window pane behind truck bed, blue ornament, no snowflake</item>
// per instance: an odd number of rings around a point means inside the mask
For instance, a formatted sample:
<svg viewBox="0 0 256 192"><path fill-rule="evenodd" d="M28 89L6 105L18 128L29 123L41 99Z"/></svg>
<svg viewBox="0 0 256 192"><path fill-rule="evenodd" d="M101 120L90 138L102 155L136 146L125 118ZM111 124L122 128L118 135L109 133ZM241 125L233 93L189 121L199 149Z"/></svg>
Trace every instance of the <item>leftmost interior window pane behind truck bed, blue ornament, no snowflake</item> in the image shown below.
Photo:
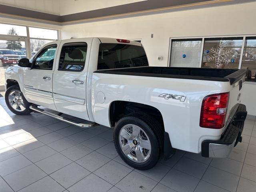
<svg viewBox="0 0 256 192"><path fill-rule="evenodd" d="M202 39L172 40L171 67L200 67Z"/></svg>

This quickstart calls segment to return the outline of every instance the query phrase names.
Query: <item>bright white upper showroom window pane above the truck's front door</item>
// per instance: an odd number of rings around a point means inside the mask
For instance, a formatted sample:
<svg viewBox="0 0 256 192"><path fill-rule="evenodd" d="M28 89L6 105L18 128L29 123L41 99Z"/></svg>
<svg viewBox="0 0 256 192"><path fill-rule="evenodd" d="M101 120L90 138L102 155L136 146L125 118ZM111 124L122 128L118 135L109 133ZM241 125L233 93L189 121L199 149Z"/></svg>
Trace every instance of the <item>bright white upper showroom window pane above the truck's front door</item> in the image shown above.
<svg viewBox="0 0 256 192"><path fill-rule="evenodd" d="M58 39L58 32L57 30L29 27L29 36L31 38L56 40Z"/></svg>

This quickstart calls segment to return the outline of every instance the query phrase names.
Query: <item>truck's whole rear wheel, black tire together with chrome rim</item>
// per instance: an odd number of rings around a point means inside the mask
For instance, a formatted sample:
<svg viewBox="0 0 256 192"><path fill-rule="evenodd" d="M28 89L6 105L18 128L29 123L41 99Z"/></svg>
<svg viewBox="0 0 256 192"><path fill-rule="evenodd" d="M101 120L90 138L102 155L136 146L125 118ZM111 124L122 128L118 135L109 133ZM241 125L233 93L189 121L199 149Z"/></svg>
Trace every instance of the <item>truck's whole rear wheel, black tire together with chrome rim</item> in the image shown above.
<svg viewBox="0 0 256 192"><path fill-rule="evenodd" d="M140 136L136 137L139 128ZM130 114L116 123L114 143L119 156L126 164L138 170L148 170L154 167L160 158L163 134L160 124L154 118L146 114Z"/></svg>

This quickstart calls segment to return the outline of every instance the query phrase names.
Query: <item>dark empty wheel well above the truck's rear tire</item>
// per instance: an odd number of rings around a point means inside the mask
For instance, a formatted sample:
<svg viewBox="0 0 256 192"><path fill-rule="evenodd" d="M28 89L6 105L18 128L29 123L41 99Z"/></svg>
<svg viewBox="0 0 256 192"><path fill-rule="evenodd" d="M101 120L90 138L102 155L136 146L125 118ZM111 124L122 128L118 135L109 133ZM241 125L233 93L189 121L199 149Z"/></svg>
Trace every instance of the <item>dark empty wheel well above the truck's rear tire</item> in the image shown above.
<svg viewBox="0 0 256 192"><path fill-rule="evenodd" d="M114 101L110 105L110 123L115 126L116 122L122 117L132 113L146 113L153 116L161 125L164 132L164 121L161 112L150 105L140 104L128 101Z"/></svg>

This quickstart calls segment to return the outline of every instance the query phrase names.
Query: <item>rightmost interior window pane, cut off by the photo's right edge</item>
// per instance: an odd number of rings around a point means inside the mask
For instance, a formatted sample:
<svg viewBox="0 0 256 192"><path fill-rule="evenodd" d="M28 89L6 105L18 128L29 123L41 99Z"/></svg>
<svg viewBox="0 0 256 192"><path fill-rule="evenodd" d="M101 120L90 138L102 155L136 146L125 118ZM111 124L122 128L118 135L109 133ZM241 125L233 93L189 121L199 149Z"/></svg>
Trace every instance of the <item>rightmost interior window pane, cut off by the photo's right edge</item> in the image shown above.
<svg viewBox="0 0 256 192"><path fill-rule="evenodd" d="M249 69L246 80L256 81L256 37L246 38L241 69Z"/></svg>

